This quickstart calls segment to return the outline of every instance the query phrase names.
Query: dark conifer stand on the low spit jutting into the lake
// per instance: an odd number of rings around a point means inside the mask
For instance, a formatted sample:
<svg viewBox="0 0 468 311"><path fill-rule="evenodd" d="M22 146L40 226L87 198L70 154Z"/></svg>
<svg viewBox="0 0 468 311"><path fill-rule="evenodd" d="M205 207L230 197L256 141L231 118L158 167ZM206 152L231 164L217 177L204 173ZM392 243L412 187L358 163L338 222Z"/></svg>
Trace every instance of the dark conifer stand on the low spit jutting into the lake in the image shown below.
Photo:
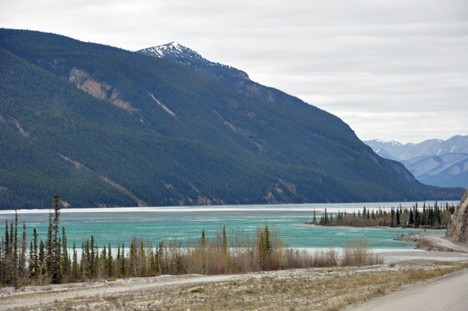
<svg viewBox="0 0 468 311"><path fill-rule="evenodd" d="M446 229L451 215L457 207L455 205L439 206L437 201L434 206L426 206L424 203L422 209L416 203L411 208L392 207L390 211L382 208L366 209L347 213L346 211L335 214L323 213L320 220L317 220L316 213L312 221L305 222L309 225L318 226L349 226L349 227L399 227L399 228L427 228L427 229Z"/></svg>

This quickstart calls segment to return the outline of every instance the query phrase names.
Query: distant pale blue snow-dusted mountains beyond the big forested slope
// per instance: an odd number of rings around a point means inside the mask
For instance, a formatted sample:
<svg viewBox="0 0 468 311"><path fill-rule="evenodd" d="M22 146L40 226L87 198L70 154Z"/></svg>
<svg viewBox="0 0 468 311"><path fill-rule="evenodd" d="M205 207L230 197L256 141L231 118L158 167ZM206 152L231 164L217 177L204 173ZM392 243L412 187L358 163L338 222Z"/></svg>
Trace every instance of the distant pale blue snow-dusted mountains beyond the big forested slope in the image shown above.
<svg viewBox="0 0 468 311"><path fill-rule="evenodd" d="M468 187L468 135L419 144L364 141L380 156L400 161L422 183L441 187Z"/></svg>

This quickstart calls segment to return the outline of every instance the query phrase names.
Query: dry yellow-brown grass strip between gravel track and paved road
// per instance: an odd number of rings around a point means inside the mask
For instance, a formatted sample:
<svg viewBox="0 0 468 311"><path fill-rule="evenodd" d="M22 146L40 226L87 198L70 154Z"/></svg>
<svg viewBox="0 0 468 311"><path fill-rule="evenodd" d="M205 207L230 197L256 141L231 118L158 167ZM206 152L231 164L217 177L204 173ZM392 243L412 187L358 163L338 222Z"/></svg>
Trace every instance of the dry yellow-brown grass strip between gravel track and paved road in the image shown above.
<svg viewBox="0 0 468 311"><path fill-rule="evenodd" d="M467 267L426 262L253 273L220 282L94 292L55 301L48 310L337 310Z"/></svg>

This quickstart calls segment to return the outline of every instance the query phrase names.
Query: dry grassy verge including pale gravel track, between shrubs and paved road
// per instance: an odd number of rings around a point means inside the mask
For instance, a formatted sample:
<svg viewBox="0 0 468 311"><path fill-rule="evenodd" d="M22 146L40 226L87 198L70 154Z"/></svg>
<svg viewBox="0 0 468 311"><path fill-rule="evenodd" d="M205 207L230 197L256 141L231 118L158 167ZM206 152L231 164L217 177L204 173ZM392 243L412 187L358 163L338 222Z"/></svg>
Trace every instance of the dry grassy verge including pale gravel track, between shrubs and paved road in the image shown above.
<svg viewBox="0 0 468 311"><path fill-rule="evenodd" d="M423 261L229 277L159 276L28 287L0 300L15 310L36 310L44 304L48 310L338 310L466 267Z"/></svg>

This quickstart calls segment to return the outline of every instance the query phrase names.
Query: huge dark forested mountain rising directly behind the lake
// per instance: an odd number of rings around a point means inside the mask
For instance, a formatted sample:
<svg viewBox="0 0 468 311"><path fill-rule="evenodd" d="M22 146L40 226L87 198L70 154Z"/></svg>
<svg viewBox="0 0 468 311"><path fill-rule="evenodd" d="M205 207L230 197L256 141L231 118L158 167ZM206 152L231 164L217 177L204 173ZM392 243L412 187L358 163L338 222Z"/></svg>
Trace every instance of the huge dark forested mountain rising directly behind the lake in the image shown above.
<svg viewBox="0 0 468 311"><path fill-rule="evenodd" d="M463 193L422 185L336 116L192 56L1 29L0 208L48 208L55 194L105 207Z"/></svg>

